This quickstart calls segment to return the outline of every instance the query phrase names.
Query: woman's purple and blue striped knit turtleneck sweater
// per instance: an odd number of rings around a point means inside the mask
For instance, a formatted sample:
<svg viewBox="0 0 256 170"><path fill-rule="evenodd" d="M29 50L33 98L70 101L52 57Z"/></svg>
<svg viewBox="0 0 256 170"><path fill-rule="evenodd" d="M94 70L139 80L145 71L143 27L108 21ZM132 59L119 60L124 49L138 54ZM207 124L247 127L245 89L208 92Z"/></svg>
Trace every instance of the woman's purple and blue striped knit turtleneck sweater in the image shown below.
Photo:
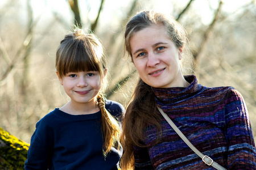
<svg viewBox="0 0 256 170"><path fill-rule="evenodd" d="M250 120L240 92L233 87L204 87L185 76L187 88L152 88L156 103L188 140L226 169L256 169ZM160 114L160 113L159 113ZM214 169L189 148L164 118L162 136L144 130L147 147L134 146L135 169Z"/></svg>

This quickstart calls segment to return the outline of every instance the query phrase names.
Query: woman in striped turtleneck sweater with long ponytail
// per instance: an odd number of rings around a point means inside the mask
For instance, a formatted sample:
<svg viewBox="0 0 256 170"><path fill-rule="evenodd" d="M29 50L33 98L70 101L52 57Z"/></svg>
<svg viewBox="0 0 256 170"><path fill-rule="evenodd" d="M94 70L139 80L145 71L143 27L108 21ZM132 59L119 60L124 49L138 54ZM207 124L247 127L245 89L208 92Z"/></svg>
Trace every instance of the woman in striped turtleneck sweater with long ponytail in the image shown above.
<svg viewBox="0 0 256 170"><path fill-rule="evenodd" d="M139 82L123 119L123 169L215 169L205 164L158 111L162 108L193 146L226 169L256 169L245 101L233 87L205 87L183 75L187 34L174 18L142 11L126 25L125 49Z"/></svg>

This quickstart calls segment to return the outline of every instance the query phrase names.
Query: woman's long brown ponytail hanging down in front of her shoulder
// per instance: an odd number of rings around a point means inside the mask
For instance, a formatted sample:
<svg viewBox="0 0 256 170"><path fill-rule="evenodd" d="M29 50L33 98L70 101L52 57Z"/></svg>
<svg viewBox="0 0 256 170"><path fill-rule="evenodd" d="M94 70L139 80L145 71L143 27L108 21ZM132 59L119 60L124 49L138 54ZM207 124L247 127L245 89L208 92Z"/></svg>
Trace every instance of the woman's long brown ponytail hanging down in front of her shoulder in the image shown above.
<svg viewBox="0 0 256 170"><path fill-rule="evenodd" d="M121 158L122 169L133 169L133 145L146 147L143 145L143 129L154 125L158 131L161 130L159 124L159 114L156 113L155 98L151 87L139 79L134 94L131 97L122 124L121 143L123 146L123 156Z"/></svg>

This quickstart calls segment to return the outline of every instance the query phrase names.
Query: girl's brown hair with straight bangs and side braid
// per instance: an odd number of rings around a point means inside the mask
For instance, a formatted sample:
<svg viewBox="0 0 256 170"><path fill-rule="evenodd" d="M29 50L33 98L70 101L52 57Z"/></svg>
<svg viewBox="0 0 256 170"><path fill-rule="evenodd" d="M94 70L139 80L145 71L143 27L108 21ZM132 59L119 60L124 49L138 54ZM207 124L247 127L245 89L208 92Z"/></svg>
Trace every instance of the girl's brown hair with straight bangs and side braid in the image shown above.
<svg viewBox="0 0 256 170"><path fill-rule="evenodd" d="M70 72L98 71L100 73L102 86L97 101L101 109L104 156L112 147L120 148L119 134L121 133L117 120L105 108L103 92L108 84L107 75L105 75L106 64L106 53L100 40L92 33L85 34L79 28L66 35L57 48L55 67L60 78Z"/></svg>

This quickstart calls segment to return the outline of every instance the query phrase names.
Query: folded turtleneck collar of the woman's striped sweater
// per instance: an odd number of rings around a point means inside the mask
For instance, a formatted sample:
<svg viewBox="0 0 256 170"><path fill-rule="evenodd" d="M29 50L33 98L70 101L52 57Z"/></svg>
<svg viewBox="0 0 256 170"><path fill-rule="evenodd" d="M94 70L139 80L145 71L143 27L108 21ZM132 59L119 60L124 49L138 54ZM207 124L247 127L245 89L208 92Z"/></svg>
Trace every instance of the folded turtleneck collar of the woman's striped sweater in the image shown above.
<svg viewBox="0 0 256 170"><path fill-rule="evenodd" d="M201 84L197 83L195 75L186 75L184 78L188 83L190 83L188 87L152 87L155 94L156 103L159 105L159 107L162 107L163 105L173 105L181 100L187 100L203 88Z"/></svg>

